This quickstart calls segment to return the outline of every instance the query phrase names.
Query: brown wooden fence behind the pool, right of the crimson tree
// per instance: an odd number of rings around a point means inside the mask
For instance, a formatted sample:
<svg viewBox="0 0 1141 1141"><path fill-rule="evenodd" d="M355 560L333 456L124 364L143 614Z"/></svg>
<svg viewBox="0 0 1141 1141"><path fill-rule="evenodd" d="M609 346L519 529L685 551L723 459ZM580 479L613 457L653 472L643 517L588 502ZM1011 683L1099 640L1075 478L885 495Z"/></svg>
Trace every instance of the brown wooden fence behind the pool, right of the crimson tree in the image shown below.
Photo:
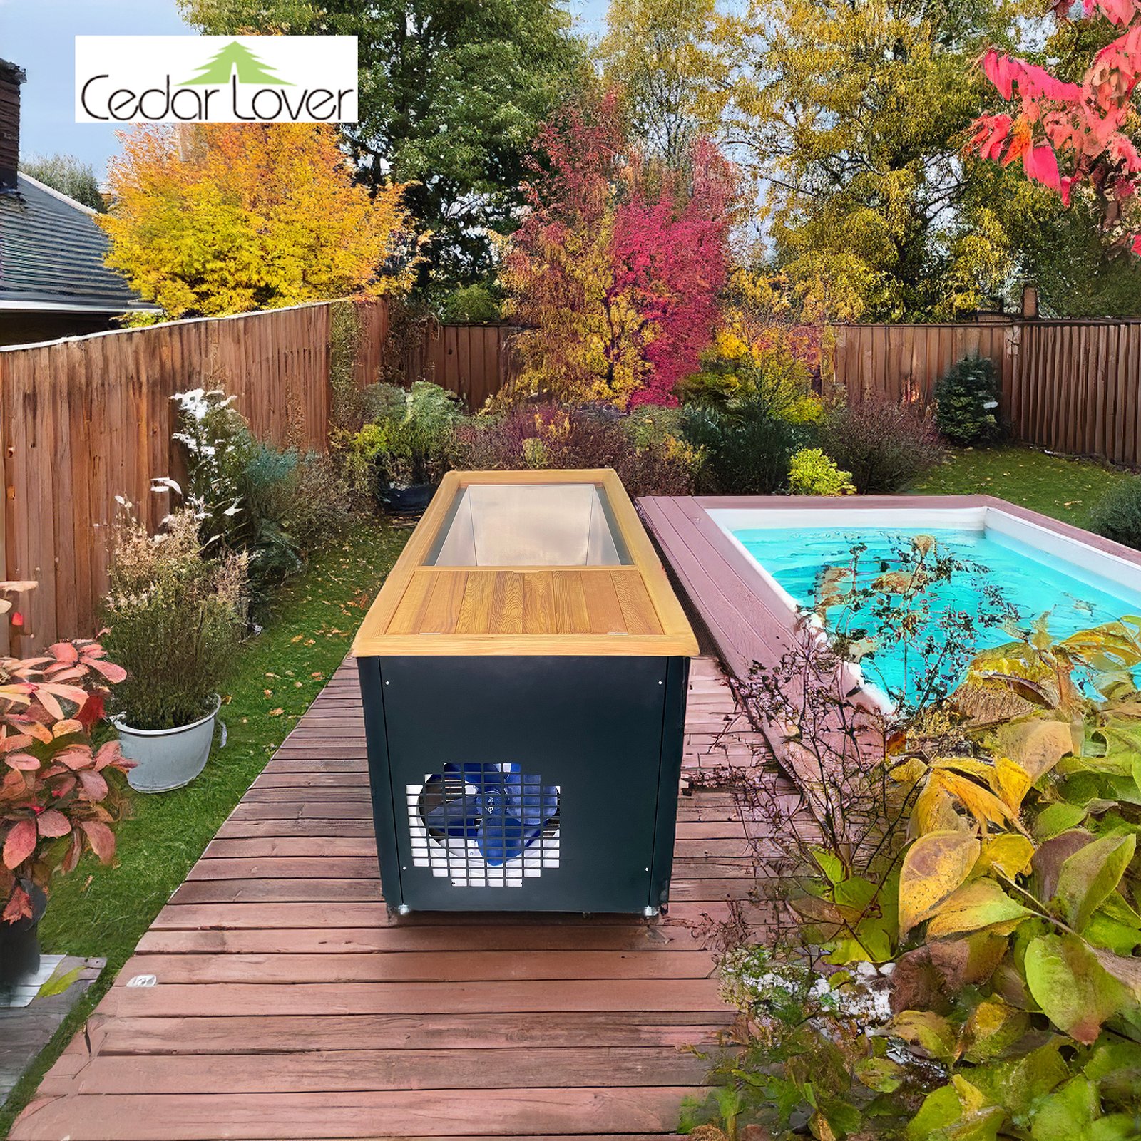
<svg viewBox="0 0 1141 1141"><path fill-rule="evenodd" d="M956 361L985 356L1023 443L1141 467L1141 322L839 325L833 333L826 372L849 400L925 403Z"/></svg>

